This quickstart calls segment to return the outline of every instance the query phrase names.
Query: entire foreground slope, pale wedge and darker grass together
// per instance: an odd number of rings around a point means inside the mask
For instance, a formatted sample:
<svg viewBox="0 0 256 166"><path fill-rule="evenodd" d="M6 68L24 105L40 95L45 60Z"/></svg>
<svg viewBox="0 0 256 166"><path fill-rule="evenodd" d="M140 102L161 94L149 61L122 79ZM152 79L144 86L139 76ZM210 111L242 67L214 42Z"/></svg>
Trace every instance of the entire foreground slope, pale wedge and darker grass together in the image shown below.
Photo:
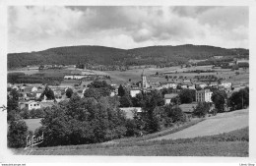
<svg viewBox="0 0 256 166"><path fill-rule="evenodd" d="M245 127L245 128L244 128ZM236 130L233 130L236 129ZM202 131L205 131L202 132ZM229 131L227 133L223 133ZM197 137L198 133L204 137ZM218 133L223 133L215 135ZM207 136L210 135L210 136ZM195 138L196 137L196 138ZM172 139L176 138L176 139ZM219 114L183 131L144 141L12 149L26 155L236 156L249 155L248 109Z"/></svg>

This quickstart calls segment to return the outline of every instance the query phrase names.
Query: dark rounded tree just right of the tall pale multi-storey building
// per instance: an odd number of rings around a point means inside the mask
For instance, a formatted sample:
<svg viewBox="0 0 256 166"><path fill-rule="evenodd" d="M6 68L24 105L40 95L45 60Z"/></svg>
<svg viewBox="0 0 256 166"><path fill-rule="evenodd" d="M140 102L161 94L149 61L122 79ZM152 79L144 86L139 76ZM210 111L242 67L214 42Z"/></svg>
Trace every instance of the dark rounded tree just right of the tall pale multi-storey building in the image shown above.
<svg viewBox="0 0 256 166"><path fill-rule="evenodd" d="M218 110L218 112L224 112L224 104L225 100L227 98L226 93L224 90L215 90L212 95L212 101L215 104L215 108Z"/></svg>

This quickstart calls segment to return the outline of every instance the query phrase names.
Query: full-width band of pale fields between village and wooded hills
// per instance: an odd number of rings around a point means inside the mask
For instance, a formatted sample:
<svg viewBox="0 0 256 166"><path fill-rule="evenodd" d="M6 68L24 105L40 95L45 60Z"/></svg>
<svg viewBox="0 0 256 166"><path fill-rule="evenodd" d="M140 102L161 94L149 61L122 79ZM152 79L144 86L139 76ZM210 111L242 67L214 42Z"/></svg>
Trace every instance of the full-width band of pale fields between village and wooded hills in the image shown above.
<svg viewBox="0 0 256 166"><path fill-rule="evenodd" d="M60 77L64 78L65 75L69 75L72 69L62 69L62 70L33 70L28 71L25 69L20 69L16 71L9 71L9 73L14 72L23 72L27 75L43 75L44 77ZM211 66L198 66L198 67L191 67L191 68L182 68L180 66L176 67L168 67L168 68L146 68L146 69L131 69L127 71L93 71L93 70L83 70L83 74L90 74L90 75L108 75L110 76L111 80L109 83L127 83L129 80L131 82L136 83L141 81L141 74L144 73L147 76L147 79L154 83L154 82L165 82L164 76L154 76L158 72L160 73L169 73L171 71L177 71L177 73L168 74L169 76L182 76L187 77L188 79L193 79L195 76L206 76L206 75L215 75L218 78L224 78L224 81L231 82L234 84L241 84L241 83L249 83L249 70L242 70L239 69L237 71L230 71L230 69L213 69L216 72L215 73L183 73L187 71L193 71L193 70L212 70ZM235 73L239 72L239 75L236 75ZM218 73L218 74L217 74ZM229 79L229 77L231 77ZM171 80L170 80L171 81Z"/></svg>

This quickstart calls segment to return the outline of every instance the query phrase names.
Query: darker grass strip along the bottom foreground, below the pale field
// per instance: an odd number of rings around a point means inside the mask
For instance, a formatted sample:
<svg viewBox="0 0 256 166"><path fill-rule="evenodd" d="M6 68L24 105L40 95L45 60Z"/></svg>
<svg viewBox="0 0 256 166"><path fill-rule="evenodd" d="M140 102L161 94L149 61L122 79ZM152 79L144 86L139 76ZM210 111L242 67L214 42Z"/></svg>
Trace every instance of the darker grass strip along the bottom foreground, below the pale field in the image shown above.
<svg viewBox="0 0 256 166"><path fill-rule="evenodd" d="M248 156L249 129L201 137L122 142L115 144L84 144L16 149L15 154L32 155L132 155L132 156Z"/></svg>

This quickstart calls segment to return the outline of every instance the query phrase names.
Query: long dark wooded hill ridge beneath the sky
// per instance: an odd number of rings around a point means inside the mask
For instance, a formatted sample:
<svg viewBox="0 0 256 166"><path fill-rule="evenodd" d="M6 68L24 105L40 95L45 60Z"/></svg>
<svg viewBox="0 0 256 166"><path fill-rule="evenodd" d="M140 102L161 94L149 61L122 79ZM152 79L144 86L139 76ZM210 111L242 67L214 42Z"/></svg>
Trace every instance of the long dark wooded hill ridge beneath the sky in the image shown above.
<svg viewBox="0 0 256 166"><path fill-rule="evenodd" d="M206 45L150 46L118 49L104 46L66 46L31 53L9 53L8 68L28 65L166 65L213 56L247 56L247 49L225 49Z"/></svg>

